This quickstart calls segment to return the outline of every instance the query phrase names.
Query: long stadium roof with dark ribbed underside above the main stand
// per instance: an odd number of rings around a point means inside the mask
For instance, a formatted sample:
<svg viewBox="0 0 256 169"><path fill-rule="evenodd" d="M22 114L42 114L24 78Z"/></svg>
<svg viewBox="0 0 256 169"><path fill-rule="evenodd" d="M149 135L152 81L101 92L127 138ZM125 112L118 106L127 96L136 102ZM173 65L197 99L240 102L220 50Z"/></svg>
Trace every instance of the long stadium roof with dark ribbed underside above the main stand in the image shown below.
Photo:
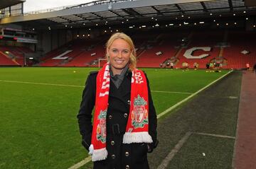
<svg viewBox="0 0 256 169"><path fill-rule="evenodd" d="M1 19L4 23L19 23L30 28L70 28L111 25L130 21L147 22L151 18L164 19L208 18L229 15L255 16L255 6L245 6L244 0L101 0L64 9L26 13Z"/></svg>

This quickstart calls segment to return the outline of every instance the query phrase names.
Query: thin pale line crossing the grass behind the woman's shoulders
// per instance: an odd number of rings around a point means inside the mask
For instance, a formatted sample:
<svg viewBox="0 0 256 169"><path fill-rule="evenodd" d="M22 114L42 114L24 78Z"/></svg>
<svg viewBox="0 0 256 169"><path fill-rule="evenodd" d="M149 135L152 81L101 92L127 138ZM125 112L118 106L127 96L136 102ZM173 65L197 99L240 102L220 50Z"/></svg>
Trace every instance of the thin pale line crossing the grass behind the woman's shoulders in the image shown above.
<svg viewBox="0 0 256 169"><path fill-rule="evenodd" d="M29 82L29 81L4 81L0 80L2 82L8 82L8 83L26 83L26 84L36 84L36 85L48 85L48 86L67 86L67 87L77 87L77 88L84 88L85 86L78 86L78 85L65 85L65 84L54 84L54 83L38 83L38 82ZM178 91L151 91L156 93L177 93L177 94L188 94L191 95L192 93L188 92L178 92Z"/></svg>

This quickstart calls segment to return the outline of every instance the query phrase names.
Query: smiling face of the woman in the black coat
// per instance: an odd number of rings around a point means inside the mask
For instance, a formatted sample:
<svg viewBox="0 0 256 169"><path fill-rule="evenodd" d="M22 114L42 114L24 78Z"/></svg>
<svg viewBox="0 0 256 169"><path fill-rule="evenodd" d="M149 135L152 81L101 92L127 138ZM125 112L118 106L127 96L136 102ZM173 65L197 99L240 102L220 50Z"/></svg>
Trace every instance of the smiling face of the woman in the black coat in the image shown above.
<svg viewBox="0 0 256 169"><path fill-rule="evenodd" d="M110 48L107 49L107 54L110 56L110 65L114 75L122 73L122 69L129 62L131 53L131 47L125 40L117 39L112 42Z"/></svg>

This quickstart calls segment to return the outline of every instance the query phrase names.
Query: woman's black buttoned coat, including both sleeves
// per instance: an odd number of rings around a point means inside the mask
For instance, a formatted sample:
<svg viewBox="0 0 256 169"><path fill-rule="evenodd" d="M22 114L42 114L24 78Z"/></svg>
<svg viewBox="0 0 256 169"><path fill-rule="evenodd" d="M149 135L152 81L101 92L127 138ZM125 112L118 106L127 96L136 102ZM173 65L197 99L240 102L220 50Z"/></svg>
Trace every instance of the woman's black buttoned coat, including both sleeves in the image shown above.
<svg viewBox="0 0 256 169"><path fill-rule="evenodd" d="M95 106L97 72L92 72L87 78L85 89L82 93L82 102L78 114L82 145L88 150L92 136L92 109ZM149 134L153 144L122 144L122 139L129 117L129 100L131 95L132 72L127 71L119 88L110 81L109 107L107 109L107 152L105 161L96 161L94 168L149 168L147 153L153 151L157 145L156 140L156 110L154 108L149 81Z"/></svg>

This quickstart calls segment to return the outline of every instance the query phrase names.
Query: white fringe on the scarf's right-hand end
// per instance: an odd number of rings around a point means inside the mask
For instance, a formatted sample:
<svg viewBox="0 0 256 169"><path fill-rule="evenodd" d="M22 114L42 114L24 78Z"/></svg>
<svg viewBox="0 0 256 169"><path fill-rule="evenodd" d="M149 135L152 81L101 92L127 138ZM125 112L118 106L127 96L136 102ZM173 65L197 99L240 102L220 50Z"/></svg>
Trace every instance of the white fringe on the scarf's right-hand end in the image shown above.
<svg viewBox="0 0 256 169"><path fill-rule="evenodd" d="M153 143L149 132L125 132L123 144Z"/></svg>

